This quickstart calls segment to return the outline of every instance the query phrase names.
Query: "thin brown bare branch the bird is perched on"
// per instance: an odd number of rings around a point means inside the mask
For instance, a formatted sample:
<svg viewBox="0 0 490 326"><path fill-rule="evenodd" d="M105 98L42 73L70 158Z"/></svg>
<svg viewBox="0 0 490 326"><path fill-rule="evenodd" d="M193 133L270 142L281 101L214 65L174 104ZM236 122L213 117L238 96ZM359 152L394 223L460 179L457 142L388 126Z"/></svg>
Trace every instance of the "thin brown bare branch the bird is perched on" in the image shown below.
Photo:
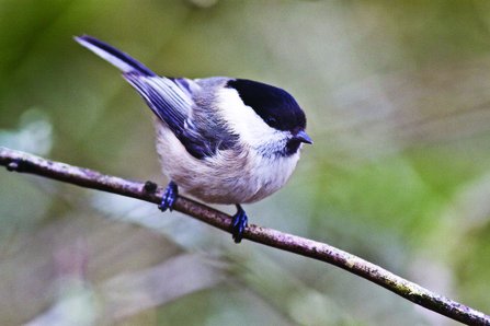
<svg viewBox="0 0 490 326"><path fill-rule="evenodd" d="M49 161L27 153L0 148L0 165L9 171L31 173L86 188L92 188L160 203L163 188L123 179L88 168ZM179 196L173 210L191 216L215 228L230 232L231 217ZM243 238L335 265L431 311L467 325L490 325L490 316L448 298L433 293L386 269L330 245L250 224Z"/></svg>

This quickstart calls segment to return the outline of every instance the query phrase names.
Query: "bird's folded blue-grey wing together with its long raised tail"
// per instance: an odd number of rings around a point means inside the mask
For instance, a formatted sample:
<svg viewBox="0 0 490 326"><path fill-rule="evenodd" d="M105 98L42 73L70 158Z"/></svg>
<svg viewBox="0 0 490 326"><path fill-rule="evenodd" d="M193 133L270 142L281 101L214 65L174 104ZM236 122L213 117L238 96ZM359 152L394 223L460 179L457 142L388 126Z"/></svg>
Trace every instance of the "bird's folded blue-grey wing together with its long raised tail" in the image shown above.
<svg viewBox="0 0 490 326"><path fill-rule="evenodd" d="M198 108L193 97L202 89L198 83L184 78L159 78L130 56L94 37L83 35L75 39L123 70L123 77L138 91L191 155L204 159L216 153L223 145L220 136L216 132L219 128L213 128L213 121L203 119L209 118L205 110L202 110L204 114L195 114L198 121L193 120L192 110Z"/></svg>

